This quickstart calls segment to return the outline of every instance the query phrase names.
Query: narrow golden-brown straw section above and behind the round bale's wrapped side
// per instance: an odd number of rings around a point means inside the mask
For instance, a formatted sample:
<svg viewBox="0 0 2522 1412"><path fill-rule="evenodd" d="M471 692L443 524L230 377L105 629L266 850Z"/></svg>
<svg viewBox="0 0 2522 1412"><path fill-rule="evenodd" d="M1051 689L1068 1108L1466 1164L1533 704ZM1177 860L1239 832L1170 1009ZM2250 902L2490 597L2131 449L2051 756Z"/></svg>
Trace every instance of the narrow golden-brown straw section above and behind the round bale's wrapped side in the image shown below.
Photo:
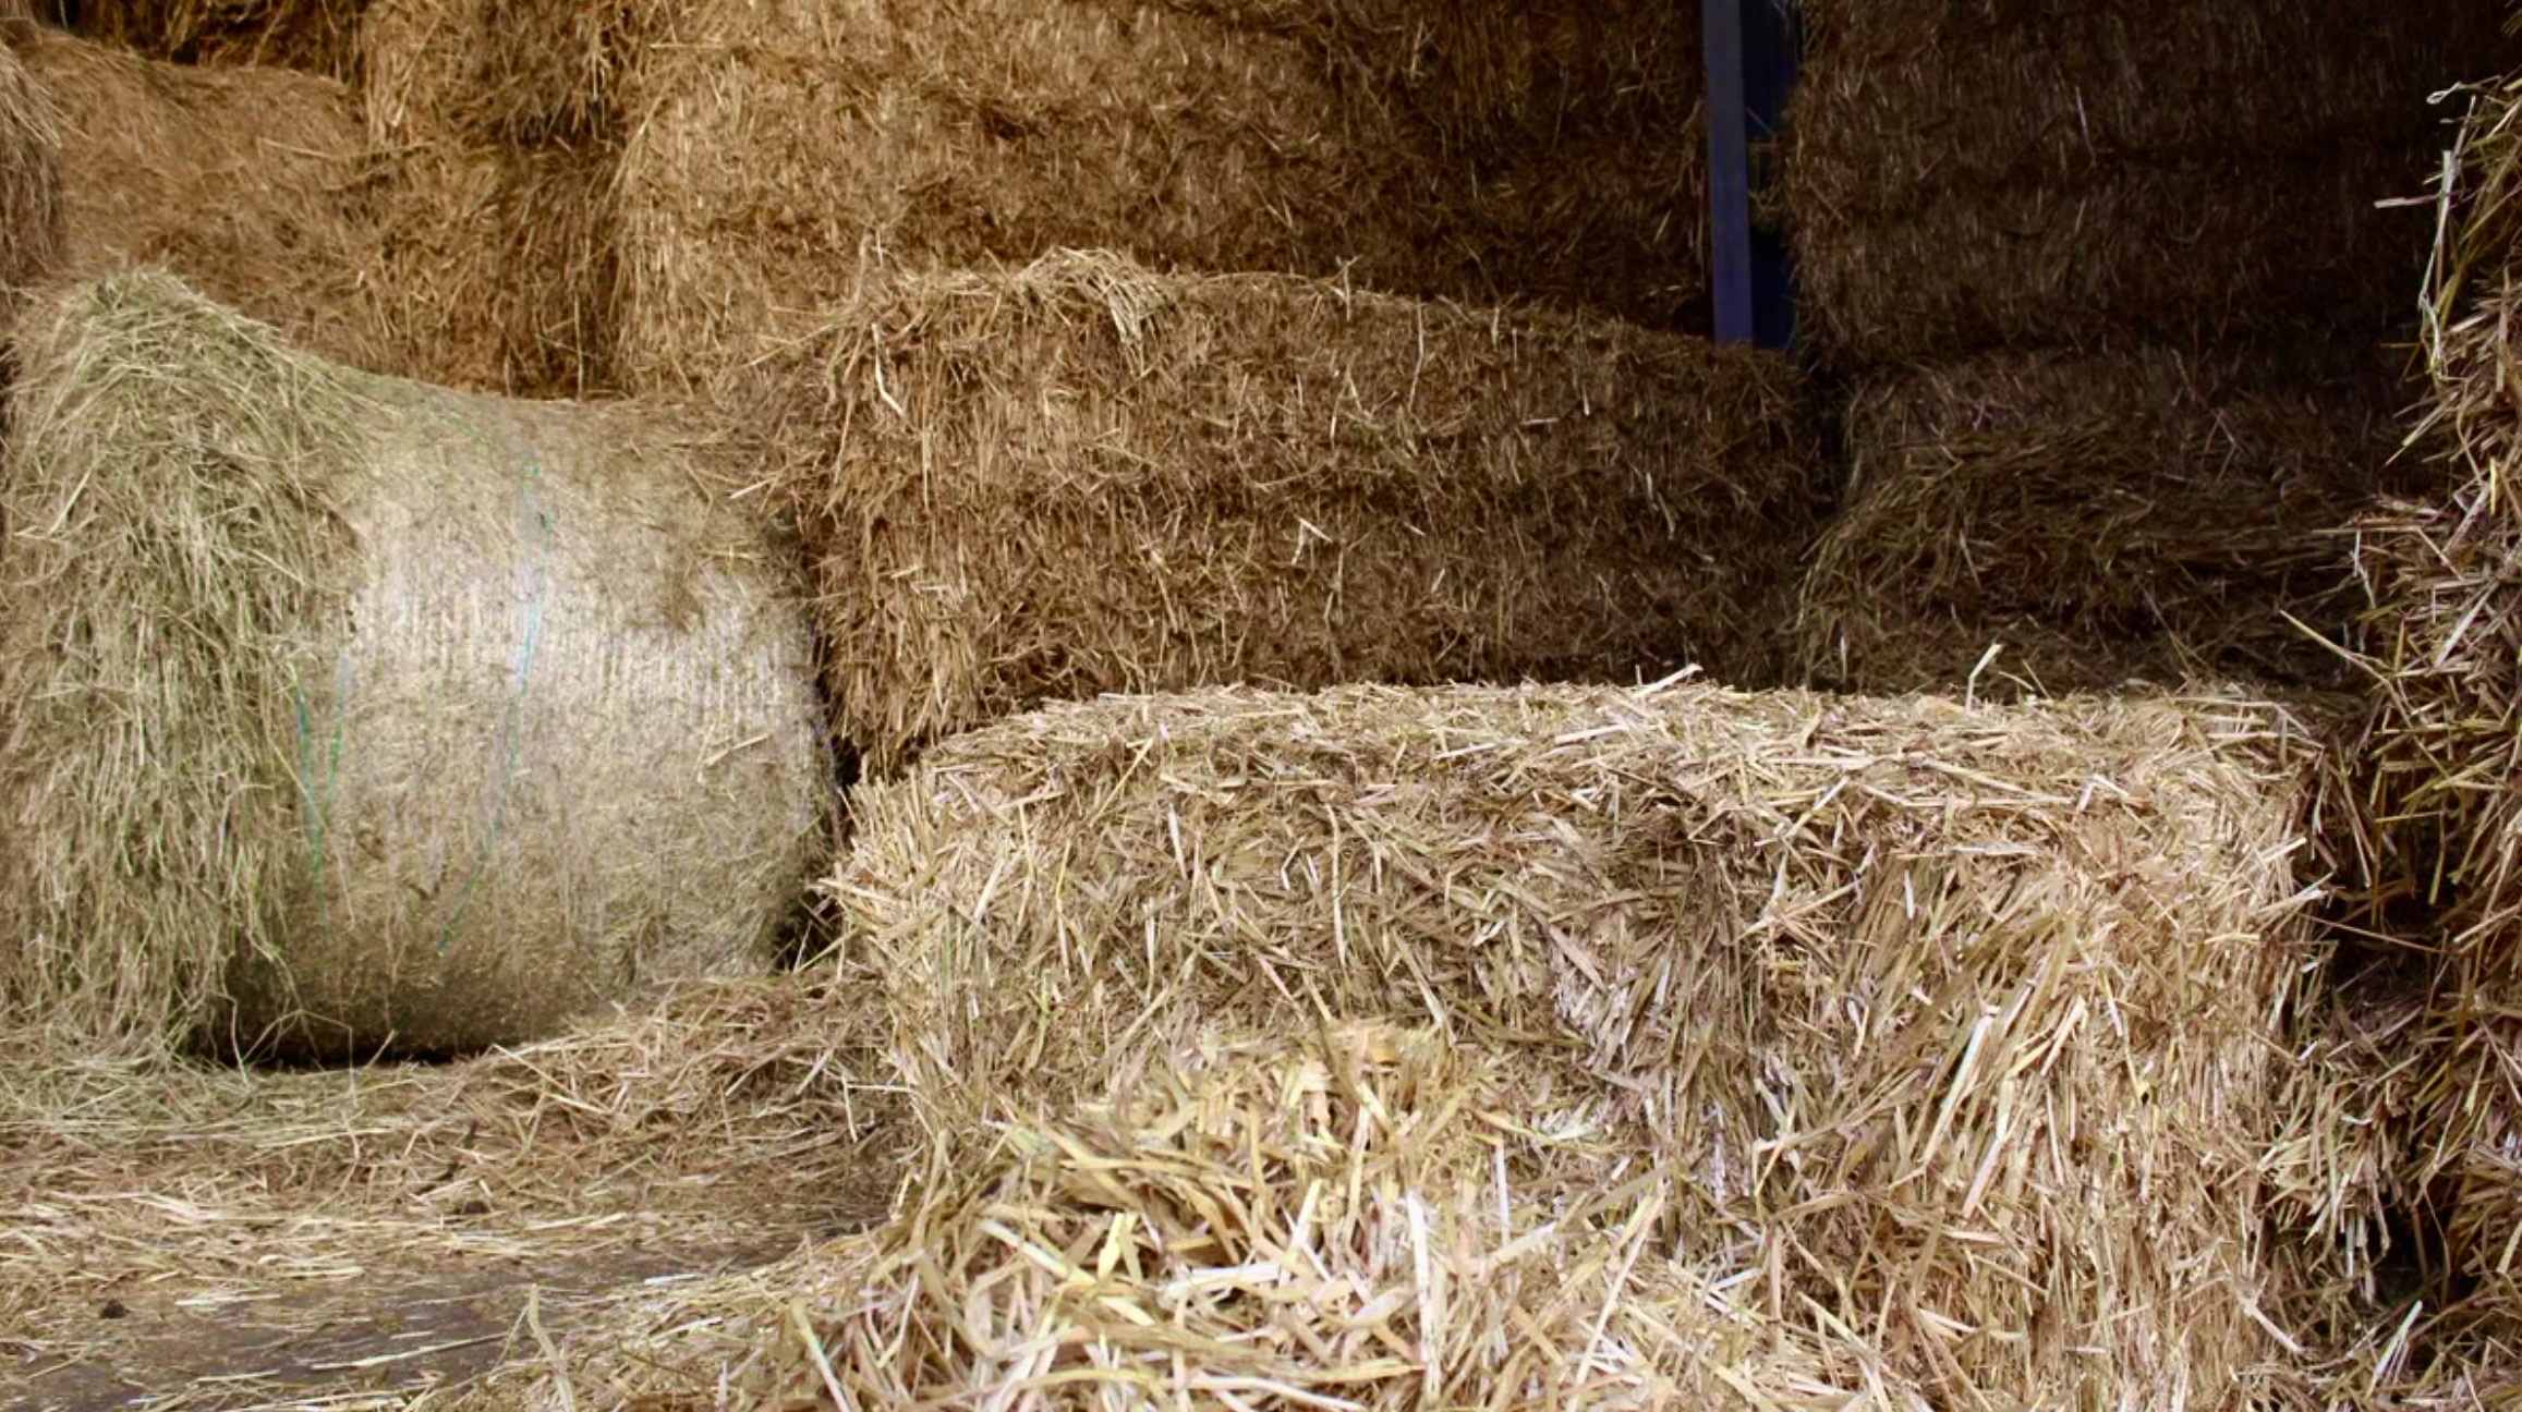
<svg viewBox="0 0 2522 1412"><path fill-rule="evenodd" d="M535 40L615 10L378 0L361 25L368 136L391 154L396 318L441 330L439 361L469 373L451 381L509 396L618 391L620 136L593 96L583 111L517 111L545 88L578 91L545 73L572 50ZM585 48L608 53L595 35Z"/></svg>

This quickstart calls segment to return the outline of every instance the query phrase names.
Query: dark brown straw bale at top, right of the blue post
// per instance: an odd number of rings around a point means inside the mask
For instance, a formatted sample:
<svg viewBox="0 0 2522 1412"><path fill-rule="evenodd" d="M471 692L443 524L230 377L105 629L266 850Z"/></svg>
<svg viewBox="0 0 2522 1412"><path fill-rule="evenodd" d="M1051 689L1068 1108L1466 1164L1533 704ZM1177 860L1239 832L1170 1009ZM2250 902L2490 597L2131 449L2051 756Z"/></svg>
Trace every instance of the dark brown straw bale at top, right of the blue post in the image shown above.
<svg viewBox="0 0 2522 1412"><path fill-rule="evenodd" d="M1816 350L2406 323L2426 96L2494 73L2502 0L2002 5L1828 0L1808 30L1783 212Z"/></svg>

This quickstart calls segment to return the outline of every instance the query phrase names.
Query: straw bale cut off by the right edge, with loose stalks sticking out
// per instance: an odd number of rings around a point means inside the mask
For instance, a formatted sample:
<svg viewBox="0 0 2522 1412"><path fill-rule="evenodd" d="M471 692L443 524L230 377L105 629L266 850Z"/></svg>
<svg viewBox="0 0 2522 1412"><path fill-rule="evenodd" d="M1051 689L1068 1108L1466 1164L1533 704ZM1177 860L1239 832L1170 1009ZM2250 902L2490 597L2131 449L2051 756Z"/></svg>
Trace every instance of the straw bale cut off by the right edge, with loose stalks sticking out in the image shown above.
<svg viewBox="0 0 2522 1412"><path fill-rule="evenodd" d="M2419 1167L2444 1183L2446 1258L2522 1339L2522 88L2477 96L2446 189L2429 328L2429 446L2451 487L2366 527L2366 651L2381 691L2358 741L2378 908L2434 913Z"/></svg>

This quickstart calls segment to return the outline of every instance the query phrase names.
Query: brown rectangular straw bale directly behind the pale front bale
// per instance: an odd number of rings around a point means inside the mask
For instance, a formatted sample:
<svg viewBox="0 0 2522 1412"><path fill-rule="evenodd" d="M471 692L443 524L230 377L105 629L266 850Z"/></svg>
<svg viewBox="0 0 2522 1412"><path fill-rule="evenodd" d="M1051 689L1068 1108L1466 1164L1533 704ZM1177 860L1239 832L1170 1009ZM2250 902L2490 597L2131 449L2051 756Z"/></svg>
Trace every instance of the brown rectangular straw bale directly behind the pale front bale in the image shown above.
<svg viewBox="0 0 2522 1412"><path fill-rule="evenodd" d="M1097 691L1735 673L1813 524L1778 358L1107 255L888 275L729 406L875 769Z"/></svg>

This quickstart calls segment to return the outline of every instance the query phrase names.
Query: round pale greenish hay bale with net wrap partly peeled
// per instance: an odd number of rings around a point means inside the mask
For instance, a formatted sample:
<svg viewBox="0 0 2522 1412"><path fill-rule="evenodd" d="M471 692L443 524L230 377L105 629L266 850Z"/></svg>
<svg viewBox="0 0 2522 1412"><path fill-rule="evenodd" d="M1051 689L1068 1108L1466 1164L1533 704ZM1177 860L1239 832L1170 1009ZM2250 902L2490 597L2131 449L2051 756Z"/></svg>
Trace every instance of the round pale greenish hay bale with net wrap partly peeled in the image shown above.
<svg viewBox="0 0 2522 1412"><path fill-rule="evenodd" d="M366 378L164 275L20 338L10 1014L449 1051L759 966L820 850L805 625L638 408Z"/></svg>

